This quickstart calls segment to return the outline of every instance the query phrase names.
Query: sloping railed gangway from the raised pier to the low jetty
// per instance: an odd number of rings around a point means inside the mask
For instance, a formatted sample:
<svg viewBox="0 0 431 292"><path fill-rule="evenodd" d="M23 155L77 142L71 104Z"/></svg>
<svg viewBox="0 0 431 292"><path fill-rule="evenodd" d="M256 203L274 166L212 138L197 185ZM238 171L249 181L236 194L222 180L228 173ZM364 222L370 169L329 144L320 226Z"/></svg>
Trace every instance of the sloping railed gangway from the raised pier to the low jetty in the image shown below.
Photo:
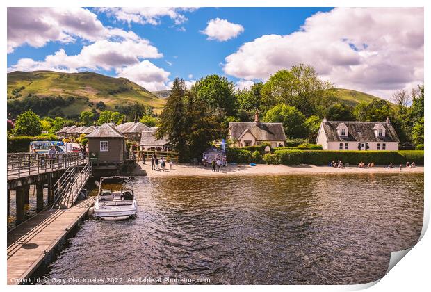
<svg viewBox="0 0 431 292"><path fill-rule="evenodd" d="M70 208L81 193L91 175L91 162L67 168L54 185L52 208Z"/></svg>

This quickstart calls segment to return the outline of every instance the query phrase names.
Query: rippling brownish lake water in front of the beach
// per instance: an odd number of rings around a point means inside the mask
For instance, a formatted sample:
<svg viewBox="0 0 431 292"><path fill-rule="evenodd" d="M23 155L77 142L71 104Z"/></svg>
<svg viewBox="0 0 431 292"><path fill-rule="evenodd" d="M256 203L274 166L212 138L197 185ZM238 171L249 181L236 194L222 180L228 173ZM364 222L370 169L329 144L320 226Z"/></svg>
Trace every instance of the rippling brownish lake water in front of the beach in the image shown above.
<svg viewBox="0 0 431 292"><path fill-rule="evenodd" d="M139 177L134 188L136 218L84 221L42 277L360 284L384 276L423 220L423 174Z"/></svg>

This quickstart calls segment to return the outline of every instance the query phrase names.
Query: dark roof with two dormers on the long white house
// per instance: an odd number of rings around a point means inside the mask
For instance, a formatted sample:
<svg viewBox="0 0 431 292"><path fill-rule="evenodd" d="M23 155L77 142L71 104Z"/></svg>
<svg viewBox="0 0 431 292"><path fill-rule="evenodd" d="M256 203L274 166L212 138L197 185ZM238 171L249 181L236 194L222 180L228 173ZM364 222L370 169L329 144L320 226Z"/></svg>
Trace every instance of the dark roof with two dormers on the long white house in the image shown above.
<svg viewBox="0 0 431 292"><path fill-rule="evenodd" d="M339 124L348 128L348 136L339 137L336 128ZM384 137L376 137L376 124L382 124L385 129ZM398 142L398 136L391 123L388 122L322 122L323 130L328 141L358 141L358 142Z"/></svg>

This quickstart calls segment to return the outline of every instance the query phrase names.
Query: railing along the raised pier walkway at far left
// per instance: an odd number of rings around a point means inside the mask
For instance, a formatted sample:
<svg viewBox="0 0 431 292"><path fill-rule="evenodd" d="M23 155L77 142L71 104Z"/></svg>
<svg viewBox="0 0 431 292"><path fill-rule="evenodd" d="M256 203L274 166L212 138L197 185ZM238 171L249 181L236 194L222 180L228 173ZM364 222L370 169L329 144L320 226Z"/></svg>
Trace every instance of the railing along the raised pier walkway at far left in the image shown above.
<svg viewBox="0 0 431 292"><path fill-rule="evenodd" d="M70 166L81 165L87 161L88 156L83 156L77 152L59 154L8 153L8 179L61 170Z"/></svg>

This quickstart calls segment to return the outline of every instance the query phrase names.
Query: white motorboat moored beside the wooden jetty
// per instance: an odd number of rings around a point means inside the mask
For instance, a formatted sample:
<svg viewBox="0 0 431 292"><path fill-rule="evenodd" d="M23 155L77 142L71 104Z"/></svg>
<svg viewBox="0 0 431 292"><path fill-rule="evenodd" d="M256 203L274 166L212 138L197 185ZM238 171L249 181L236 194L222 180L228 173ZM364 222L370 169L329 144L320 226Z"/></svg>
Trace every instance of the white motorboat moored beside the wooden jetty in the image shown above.
<svg viewBox="0 0 431 292"><path fill-rule="evenodd" d="M99 184L99 193L96 198L94 214L103 220L124 220L136 215L138 203L131 188L120 190L104 189L106 180L129 180L129 177L102 177Z"/></svg>

